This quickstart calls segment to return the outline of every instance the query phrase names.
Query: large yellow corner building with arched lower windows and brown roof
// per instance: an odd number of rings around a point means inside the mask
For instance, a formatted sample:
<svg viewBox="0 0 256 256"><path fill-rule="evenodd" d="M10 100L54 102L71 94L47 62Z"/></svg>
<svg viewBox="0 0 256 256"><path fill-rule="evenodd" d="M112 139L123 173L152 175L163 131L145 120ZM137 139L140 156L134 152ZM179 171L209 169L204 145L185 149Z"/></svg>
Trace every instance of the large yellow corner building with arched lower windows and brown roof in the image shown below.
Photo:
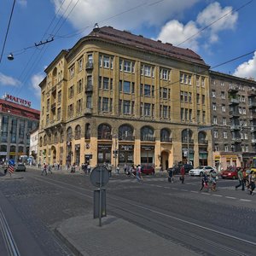
<svg viewBox="0 0 256 256"><path fill-rule="evenodd" d="M212 164L209 67L190 49L94 28L46 68L39 156L61 165ZM189 150L188 150L189 148Z"/></svg>

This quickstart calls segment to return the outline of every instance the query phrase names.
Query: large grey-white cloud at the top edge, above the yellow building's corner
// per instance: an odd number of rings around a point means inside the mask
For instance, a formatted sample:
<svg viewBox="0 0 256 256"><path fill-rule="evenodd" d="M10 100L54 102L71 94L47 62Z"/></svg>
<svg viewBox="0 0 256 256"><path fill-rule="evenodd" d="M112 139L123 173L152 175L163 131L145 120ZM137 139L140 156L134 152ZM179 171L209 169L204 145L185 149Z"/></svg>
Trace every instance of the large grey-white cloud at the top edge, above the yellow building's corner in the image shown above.
<svg viewBox="0 0 256 256"><path fill-rule="evenodd" d="M61 6L63 0L51 0L55 4L55 12ZM200 0L130 0L113 1L105 0L102 6L102 0L80 0L78 5L69 12L74 6L73 3L68 7L70 1L66 1L61 6L59 15L65 13L68 20L76 29L86 26L93 26L98 23L99 26L113 26L118 29L135 29L139 26L161 26L170 17L183 14L185 9L191 8Z"/></svg>

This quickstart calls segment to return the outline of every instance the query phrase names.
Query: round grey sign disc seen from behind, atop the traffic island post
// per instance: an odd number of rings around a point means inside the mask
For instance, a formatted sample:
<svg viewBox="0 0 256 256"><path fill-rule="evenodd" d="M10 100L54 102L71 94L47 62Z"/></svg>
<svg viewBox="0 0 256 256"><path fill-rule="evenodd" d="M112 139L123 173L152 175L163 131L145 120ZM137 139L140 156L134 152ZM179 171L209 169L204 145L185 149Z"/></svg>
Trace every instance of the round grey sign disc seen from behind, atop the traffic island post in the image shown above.
<svg viewBox="0 0 256 256"><path fill-rule="evenodd" d="M96 187L104 187L109 180L108 169L104 166L96 166L90 172L90 183Z"/></svg>

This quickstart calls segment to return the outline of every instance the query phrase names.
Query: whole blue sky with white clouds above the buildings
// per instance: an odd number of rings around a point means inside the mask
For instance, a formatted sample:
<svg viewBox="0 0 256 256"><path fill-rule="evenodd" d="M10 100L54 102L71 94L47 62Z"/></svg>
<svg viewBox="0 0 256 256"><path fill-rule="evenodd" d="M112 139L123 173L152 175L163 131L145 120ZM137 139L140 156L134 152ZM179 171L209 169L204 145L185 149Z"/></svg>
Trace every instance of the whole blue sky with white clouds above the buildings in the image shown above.
<svg viewBox="0 0 256 256"><path fill-rule="evenodd" d="M12 4L0 3L1 51ZM0 63L0 96L9 93L40 109L45 67L95 23L193 49L211 67L251 53L213 70L256 79L255 10L255 0L16 0Z"/></svg>

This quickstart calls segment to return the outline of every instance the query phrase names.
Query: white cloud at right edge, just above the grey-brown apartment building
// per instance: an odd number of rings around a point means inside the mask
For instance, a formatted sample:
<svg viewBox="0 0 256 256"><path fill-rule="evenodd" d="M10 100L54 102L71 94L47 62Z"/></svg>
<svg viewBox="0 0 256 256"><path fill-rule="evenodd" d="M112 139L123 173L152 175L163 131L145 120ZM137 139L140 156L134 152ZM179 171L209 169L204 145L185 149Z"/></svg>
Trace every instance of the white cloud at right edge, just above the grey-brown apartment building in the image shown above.
<svg viewBox="0 0 256 256"><path fill-rule="evenodd" d="M256 80L256 51L254 52L253 58L249 61L241 63L236 67L234 76L241 78L253 78Z"/></svg>

